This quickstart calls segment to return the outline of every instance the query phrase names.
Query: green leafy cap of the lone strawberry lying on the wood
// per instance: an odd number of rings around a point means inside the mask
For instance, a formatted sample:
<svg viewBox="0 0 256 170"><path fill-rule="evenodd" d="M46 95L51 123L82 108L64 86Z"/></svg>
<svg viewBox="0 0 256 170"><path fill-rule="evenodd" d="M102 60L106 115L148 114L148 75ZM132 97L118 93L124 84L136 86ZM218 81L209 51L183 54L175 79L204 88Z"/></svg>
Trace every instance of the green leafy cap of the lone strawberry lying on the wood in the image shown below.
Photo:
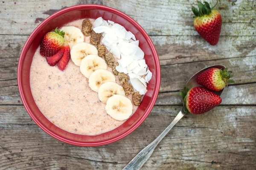
<svg viewBox="0 0 256 170"><path fill-rule="evenodd" d="M217 0L218 3L218 0ZM215 6L217 5L217 3L215 4ZM207 3L206 1L204 1L204 4L201 2L198 2L198 9L196 9L194 6L192 6L192 12L195 14L196 17L201 17L204 14L209 15L212 12L212 9L214 9L213 6L212 8L210 7L209 3Z"/></svg>

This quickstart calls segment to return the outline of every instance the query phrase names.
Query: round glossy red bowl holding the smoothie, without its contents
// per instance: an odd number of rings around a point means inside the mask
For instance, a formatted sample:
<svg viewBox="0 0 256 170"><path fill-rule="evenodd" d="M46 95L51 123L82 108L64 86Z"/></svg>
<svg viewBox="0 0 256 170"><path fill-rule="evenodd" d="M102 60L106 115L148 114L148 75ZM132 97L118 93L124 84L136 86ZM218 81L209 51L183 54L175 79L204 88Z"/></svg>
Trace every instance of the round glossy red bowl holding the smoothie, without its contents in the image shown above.
<svg viewBox="0 0 256 170"><path fill-rule="evenodd" d="M153 76L148 84L148 92L145 94L142 103L134 115L125 121L124 124L114 130L111 130L110 132L100 135L78 135L69 133L60 129L59 127L56 127L38 109L32 96L29 84L30 66L35 50L38 48L41 39L47 32L55 29L57 26L61 27L73 20L82 18L96 19L98 17L102 17L104 20L112 20L115 23L121 24L128 31L131 31L137 40L140 40L139 46L145 53L145 61L148 64L150 71L153 73ZM36 27L21 51L17 69L17 81L20 97L24 107L31 118L36 124L38 124L39 127L41 127L42 130L52 137L69 144L79 146L99 146L112 143L125 137L139 127L145 118L147 118L148 114L151 112L151 109L154 107L154 103L157 99L160 88L160 63L158 60L157 51L150 37L145 30L131 17L107 6L78 5L62 9L52 14L41 24L39 24L38 27Z"/></svg>

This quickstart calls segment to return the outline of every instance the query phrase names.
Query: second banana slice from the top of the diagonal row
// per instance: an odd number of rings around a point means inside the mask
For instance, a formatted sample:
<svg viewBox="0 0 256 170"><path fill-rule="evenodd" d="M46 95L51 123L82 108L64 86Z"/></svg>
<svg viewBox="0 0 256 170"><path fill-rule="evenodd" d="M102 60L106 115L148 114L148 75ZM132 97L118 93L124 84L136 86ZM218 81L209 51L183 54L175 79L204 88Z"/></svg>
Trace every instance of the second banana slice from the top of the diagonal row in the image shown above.
<svg viewBox="0 0 256 170"><path fill-rule="evenodd" d="M91 54L98 55L98 50L89 43L76 43L70 50L71 60L77 66L80 66L83 58Z"/></svg>

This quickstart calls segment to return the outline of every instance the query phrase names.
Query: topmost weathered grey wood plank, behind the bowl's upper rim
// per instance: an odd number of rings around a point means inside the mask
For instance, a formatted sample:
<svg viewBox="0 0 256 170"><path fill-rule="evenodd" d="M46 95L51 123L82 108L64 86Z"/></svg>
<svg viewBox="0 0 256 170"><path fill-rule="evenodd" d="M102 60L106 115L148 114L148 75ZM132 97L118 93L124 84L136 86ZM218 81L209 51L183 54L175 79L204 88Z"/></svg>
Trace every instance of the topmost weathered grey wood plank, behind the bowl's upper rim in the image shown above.
<svg viewBox="0 0 256 170"><path fill-rule="evenodd" d="M191 6L195 0L8 0L1 4L1 34L29 35L49 14L66 6L98 3L119 9L140 23L149 35L198 35L193 27ZM212 1L211 3L215 3ZM182 5L180 5L182 4ZM255 0L221 1L221 36L255 34ZM17 16L17 13L19 14Z"/></svg>

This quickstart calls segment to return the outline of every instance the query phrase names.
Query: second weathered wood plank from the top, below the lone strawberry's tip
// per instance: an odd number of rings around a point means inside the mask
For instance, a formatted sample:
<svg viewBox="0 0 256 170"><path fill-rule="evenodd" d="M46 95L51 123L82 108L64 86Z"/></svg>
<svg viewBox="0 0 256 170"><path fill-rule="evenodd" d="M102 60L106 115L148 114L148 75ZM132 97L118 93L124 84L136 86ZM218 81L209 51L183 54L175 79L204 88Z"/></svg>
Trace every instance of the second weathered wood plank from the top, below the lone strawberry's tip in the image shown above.
<svg viewBox="0 0 256 170"><path fill-rule="evenodd" d="M0 68L17 66L27 35L0 35ZM198 36L151 36L161 65L256 56L256 36L220 37L211 46ZM6 43L7 42L7 43ZM232 55L230 55L232 54Z"/></svg>

